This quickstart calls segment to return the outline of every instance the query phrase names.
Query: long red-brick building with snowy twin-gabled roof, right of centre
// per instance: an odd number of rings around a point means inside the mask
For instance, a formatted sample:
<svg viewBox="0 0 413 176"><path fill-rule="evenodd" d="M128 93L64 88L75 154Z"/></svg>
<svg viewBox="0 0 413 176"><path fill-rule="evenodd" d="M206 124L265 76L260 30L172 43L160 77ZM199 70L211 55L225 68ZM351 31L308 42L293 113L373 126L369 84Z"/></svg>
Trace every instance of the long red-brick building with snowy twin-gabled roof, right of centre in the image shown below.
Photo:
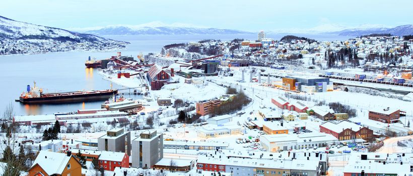
<svg viewBox="0 0 413 176"><path fill-rule="evenodd" d="M348 120L338 123L324 122L320 125L320 132L331 134L338 140L364 139L366 141L373 141L375 139L373 130Z"/></svg>

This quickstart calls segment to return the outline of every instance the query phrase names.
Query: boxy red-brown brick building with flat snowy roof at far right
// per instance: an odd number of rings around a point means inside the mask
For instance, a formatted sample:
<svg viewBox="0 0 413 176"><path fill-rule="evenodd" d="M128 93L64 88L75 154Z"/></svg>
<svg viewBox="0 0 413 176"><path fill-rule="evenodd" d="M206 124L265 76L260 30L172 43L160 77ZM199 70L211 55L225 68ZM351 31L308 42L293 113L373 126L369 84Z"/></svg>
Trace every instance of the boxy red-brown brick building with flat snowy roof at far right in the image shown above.
<svg viewBox="0 0 413 176"><path fill-rule="evenodd" d="M369 111L369 119L384 123L397 122L400 118L400 110L396 109L377 109Z"/></svg>

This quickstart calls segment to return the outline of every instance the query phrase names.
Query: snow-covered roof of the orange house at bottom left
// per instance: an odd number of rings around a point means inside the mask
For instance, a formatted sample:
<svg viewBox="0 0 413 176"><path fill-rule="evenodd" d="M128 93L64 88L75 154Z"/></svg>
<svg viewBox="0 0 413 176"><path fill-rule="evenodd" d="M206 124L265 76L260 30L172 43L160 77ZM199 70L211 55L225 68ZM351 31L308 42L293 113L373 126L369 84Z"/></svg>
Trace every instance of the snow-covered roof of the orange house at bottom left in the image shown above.
<svg viewBox="0 0 413 176"><path fill-rule="evenodd" d="M40 151L32 167L38 164L48 175L61 174L71 157L72 156L67 156L64 153Z"/></svg>

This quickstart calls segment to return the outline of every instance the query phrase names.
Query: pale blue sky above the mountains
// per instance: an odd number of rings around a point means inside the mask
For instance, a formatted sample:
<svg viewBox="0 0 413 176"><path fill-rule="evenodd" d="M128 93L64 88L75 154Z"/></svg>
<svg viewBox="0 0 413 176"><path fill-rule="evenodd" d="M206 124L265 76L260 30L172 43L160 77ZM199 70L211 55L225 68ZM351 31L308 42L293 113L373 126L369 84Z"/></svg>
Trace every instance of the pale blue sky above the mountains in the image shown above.
<svg viewBox="0 0 413 176"><path fill-rule="evenodd" d="M413 24L411 7L411 0L2 0L0 16L80 32L122 25L297 32Z"/></svg>

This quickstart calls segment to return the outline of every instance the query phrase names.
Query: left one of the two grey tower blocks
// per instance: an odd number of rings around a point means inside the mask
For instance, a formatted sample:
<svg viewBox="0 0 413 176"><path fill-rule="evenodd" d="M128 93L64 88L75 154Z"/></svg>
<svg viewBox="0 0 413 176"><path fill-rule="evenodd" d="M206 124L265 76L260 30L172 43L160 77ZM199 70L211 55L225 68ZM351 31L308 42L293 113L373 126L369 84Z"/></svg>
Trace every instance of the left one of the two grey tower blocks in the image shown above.
<svg viewBox="0 0 413 176"><path fill-rule="evenodd" d="M98 138L98 149L104 151L124 152L130 155L130 132L114 128Z"/></svg>

